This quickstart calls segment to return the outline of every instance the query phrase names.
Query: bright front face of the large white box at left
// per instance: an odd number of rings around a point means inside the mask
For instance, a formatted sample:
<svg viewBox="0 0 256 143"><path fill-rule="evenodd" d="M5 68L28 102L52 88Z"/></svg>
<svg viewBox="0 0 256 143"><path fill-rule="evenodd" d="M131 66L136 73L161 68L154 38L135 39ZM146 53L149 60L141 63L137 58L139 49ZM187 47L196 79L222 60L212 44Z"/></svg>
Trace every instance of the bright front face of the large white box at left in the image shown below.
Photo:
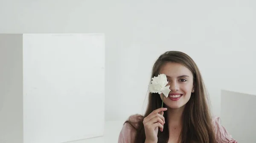
<svg viewBox="0 0 256 143"><path fill-rule="evenodd" d="M101 136L104 108L104 35L23 35L24 143Z"/></svg>

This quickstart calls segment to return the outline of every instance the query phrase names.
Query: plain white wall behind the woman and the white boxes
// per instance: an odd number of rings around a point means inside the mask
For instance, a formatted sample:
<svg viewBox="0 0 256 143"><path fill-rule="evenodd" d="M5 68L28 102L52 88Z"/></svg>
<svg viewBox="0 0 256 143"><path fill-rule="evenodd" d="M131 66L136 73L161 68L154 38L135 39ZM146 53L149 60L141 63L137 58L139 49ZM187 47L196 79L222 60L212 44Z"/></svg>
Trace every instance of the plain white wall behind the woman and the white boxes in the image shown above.
<svg viewBox="0 0 256 143"><path fill-rule="evenodd" d="M0 33L105 33L106 121L142 113L154 60L188 53L221 112L221 89L256 95L253 0L1 0Z"/></svg>

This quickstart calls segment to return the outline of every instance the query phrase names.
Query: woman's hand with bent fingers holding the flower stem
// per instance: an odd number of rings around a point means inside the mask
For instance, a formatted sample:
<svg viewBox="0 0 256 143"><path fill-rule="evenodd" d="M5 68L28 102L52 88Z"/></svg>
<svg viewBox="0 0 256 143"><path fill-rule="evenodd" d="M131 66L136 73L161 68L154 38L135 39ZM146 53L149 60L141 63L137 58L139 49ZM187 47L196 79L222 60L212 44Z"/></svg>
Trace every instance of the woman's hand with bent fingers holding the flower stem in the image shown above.
<svg viewBox="0 0 256 143"><path fill-rule="evenodd" d="M158 108L144 118L143 125L145 129L146 142L157 143L158 128L163 132L163 124L165 123L165 119L160 113L166 110L167 108Z"/></svg>

